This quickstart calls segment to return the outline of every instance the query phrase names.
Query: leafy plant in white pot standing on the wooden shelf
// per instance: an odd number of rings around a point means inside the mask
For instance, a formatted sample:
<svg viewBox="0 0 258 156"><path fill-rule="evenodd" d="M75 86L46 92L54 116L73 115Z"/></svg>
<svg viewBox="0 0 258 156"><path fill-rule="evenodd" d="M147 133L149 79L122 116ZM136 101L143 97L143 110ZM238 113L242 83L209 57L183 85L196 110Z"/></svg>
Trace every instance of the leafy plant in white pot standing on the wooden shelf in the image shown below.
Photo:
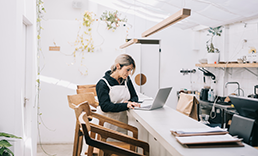
<svg viewBox="0 0 258 156"><path fill-rule="evenodd" d="M208 29L209 32L209 36L211 36L211 38L206 42L206 47L207 47L207 51L208 51L208 63L218 63L219 60L219 49L216 48L213 44L213 38L215 36L221 36L222 33L222 26L218 26L215 28L209 28Z"/></svg>

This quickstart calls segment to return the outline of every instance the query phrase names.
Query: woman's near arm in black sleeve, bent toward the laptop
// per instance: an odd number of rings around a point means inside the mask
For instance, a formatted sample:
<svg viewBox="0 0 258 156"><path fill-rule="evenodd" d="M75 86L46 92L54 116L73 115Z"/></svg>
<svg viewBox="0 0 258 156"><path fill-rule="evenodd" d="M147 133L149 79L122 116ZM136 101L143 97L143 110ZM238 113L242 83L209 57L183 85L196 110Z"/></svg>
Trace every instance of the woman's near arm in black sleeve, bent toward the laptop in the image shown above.
<svg viewBox="0 0 258 156"><path fill-rule="evenodd" d="M121 112L127 110L127 103L111 102L109 97L109 87L104 80L100 80L96 85L97 96L100 108L103 112Z"/></svg>

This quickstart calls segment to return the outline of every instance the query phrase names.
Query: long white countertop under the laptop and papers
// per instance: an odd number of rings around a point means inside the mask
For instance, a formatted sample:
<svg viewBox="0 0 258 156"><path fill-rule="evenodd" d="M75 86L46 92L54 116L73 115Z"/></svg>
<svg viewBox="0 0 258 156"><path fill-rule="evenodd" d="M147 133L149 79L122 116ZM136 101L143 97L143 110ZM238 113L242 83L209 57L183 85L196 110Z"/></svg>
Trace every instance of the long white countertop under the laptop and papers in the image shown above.
<svg viewBox="0 0 258 156"><path fill-rule="evenodd" d="M163 108L144 111L129 110L135 119L161 143L171 155L184 156L258 156L258 150L244 144L245 147L225 148L186 148L178 143L170 129L204 128L206 125L187 117L178 111L164 106Z"/></svg>

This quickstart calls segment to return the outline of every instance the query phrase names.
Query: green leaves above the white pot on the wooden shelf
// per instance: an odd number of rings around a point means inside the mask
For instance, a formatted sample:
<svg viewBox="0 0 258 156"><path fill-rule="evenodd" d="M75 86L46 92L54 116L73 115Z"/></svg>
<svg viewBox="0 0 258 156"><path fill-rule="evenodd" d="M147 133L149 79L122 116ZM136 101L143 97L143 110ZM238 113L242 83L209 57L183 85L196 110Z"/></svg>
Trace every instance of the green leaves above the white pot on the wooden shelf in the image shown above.
<svg viewBox="0 0 258 156"><path fill-rule="evenodd" d="M219 53L219 49L215 48L214 45L213 45L213 37L214 36L221 36L221 33L222 33L221 29L222 29L222 26L218 26L216 28L211 28L210 27L208 29L208 32L209 32L208 35L211 35L211 39L209 39L206 42L206 47L207 47L208 53Z"/></svg>

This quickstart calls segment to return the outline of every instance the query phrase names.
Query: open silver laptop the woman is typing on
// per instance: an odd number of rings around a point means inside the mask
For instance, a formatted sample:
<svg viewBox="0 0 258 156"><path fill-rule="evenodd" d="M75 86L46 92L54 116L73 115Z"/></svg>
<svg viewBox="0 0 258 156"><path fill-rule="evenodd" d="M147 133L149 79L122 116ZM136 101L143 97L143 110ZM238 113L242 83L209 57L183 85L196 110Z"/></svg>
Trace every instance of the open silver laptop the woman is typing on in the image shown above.
<svg viewBox="0 0 258 156"><path fill-rule="evenodd" d="M172 90L172 87L159 89L154 100L146 99L143 101L143 106L135 107L134 109L135 110L154 110L154 109L162 108L165 105L171 90Z"/></svg>

